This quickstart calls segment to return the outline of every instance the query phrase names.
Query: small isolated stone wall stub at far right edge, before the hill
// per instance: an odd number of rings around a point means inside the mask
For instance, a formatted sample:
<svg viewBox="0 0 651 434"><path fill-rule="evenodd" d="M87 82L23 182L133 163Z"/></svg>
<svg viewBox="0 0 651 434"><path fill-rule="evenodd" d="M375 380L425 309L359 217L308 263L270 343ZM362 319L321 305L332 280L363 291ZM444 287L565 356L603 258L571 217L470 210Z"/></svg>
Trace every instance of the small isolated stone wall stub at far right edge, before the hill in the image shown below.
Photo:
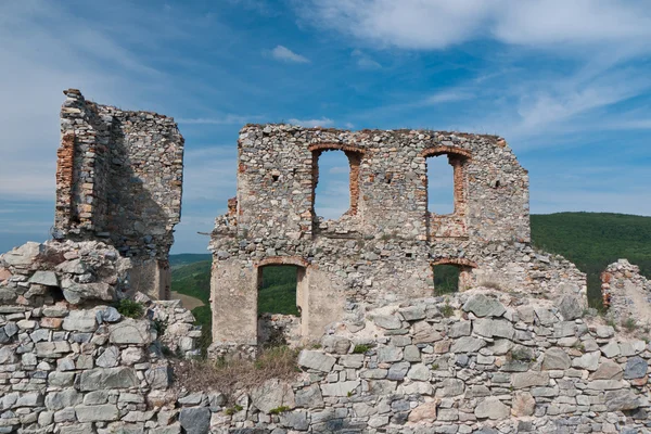
<svg viewBox="0 0 651 434"><path fill-rule="evenodd" d="M627 259L609 265L601 273L603 306L608 315L629 328L651 327L651 281Z"/></svg>

